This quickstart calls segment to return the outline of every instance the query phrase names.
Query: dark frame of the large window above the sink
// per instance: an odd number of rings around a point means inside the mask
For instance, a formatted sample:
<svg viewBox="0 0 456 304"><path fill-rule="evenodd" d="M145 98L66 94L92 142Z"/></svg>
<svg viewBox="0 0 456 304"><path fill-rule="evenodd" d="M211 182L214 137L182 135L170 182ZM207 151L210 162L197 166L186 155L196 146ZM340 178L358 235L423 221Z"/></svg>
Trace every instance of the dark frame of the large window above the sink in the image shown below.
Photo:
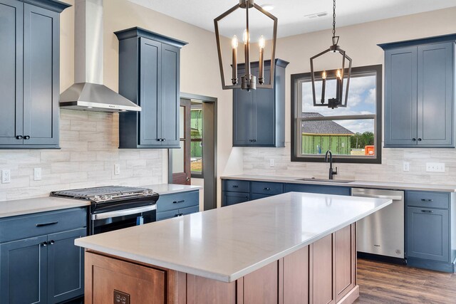
<svg viewBox="0 0 456 304"><path fill-rule="evenodd" d="M329 73L333 71L328 71ZM381 164L382 162L382 92L383 92L383 73L382 65L364 65L359 67L351 68L351 75L363 75L375 73L375 114L369 115L334 115L325 116L318 118L305 118L297 117L297 112L301 112L302 115L302 100L299 100L299 96L302 96L301 83L304 80L311 79L311 73L298 73L291 74L291 162L324 162L324 154L299 154L298 147L302 147L302 121L303 120L362 120L362 119L373 119L374 120L374 145L375 145L375 157L368 156L346 156L346 155L333 155L333 162L353 163L353 164ZM315 72L315 75L321 75L321 73ZM316 78L320 80L321 78ZM300 94L300 95L299 95ZM299 107L299 102L301 106ZM349 101L348 101L349 103ZM301 110L299 110L301 109ZM298 129L299 127L299 129ZM300 130L301 132L298 132ZM299 138L298 135L301 135ZM305 155L305 156L302 156Z"/></svg>

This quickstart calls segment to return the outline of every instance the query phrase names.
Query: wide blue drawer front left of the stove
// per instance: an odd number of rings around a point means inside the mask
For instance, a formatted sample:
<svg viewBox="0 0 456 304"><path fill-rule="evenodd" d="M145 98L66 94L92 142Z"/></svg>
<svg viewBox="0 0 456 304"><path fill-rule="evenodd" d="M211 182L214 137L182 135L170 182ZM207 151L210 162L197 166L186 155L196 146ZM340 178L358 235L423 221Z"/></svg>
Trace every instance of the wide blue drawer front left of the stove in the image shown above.
<svg viewBox="0 0 456 304"><path fill-rule="evenodd" d="M0 221L0 243L87 226L87 209L66 209Z"/></svg>

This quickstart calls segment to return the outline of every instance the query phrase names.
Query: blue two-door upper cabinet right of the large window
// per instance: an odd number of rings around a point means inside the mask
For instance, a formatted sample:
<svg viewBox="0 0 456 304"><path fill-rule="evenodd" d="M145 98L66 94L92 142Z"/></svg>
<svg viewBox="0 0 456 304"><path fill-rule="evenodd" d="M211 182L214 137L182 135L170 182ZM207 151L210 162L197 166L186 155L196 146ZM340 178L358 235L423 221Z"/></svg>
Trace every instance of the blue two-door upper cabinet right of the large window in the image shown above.
<svg viewBox="0 0 456 304"><path fill-rule="evenodd" d="M456 35L385 50L385 147L455 147Z"/></svg>

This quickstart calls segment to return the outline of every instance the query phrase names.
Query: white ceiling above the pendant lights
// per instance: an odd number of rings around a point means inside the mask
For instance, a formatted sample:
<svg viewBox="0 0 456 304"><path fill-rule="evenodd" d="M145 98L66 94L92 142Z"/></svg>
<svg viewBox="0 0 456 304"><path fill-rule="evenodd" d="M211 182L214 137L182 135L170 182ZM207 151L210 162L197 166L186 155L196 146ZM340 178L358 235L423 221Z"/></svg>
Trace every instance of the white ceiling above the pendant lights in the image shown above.
<svg viewBox="0 0 456 304"><path fill-rule="evenodd" d="M239 4L239 0L128 0L175 19L214 31L214 18ZM286 37L299 33L309 33L332 28L331 0L256 0L256 4L272 4L274 14L279 19L278 36ZM455 0L345 0L336 2L336 26L348 26L357 23L388 19L397 16L417 14L456 6ZM242 19L242 11L237 10L236 20ZM327 16L316 19L304 17L326 11ZM241 15L242 14L242 15ZM243 20L243 19L242 19ZM255 22L257 21L257 22ZM269 23L252 16L252 31L261 31ZM244 22L242 22L244 23ZM268 24L268 25L265 25ZM240 22L231 20L221 25L221 32L232 36L241 31ZM242 34L242 33L241 33ZM269 36L266 33L265 36Z"/></svg>

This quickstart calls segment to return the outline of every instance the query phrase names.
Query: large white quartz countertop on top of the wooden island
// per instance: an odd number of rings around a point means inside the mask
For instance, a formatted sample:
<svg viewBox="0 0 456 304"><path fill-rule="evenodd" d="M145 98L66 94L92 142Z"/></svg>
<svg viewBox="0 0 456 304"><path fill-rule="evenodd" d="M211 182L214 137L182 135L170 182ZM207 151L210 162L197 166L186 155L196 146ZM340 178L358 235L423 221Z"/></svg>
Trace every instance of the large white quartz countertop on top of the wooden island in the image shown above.
<svg viewBox="0 0 456 304"><path fill-rule="evenodd" d="M232 282L391 202L289 192L88 236L75 243L120 258Z"/></svg>

